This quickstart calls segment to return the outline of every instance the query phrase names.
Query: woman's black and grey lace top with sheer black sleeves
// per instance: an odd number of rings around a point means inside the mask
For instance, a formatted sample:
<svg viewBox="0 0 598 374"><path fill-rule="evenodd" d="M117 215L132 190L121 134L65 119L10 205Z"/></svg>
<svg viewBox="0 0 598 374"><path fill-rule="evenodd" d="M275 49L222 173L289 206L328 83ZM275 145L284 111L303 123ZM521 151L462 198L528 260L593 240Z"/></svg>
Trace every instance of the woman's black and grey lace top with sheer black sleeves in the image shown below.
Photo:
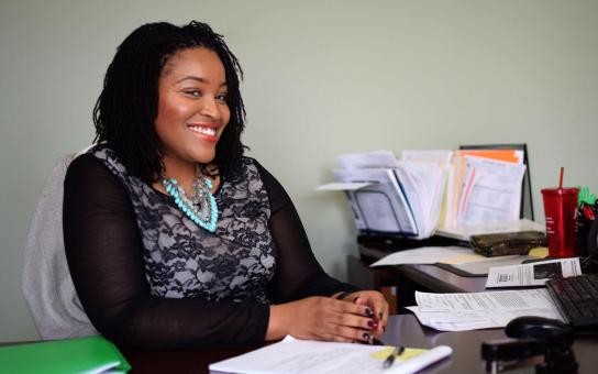
<svg viewBox="0 0 598 374"><path fill-rule="evenodd" d="M215 194L210 233L106 146L70 164L65 249L98 331L145 349L257 344L269 304L355 289L322 271L278 182L255 160L243 165Z"/></svg>

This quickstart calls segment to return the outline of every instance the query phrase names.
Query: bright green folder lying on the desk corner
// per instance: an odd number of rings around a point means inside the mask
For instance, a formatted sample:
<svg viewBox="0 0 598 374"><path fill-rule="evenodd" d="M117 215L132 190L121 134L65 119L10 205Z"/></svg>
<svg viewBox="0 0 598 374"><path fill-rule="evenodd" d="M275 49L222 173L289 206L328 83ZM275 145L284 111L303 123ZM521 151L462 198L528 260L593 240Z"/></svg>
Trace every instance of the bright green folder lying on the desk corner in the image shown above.
<svg viewBox="0 0 598 374"><path fill-rule="evenodd" d="M0 373L126 373L131 365L100 336L0 346Z"/></svg>

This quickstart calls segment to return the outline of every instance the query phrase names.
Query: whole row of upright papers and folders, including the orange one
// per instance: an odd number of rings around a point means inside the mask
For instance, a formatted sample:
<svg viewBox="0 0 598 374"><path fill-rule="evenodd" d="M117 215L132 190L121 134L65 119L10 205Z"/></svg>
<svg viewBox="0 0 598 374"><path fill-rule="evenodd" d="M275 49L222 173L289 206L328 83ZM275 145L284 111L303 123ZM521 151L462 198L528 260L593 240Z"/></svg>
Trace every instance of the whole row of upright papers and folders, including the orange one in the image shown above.
<svg viewBox="0 0 598 374"><path fill-rule="evenodd" d="M403 151L339 157L334 183L346 193L358 230L425 239L450 230L519 218L523 151Z"/></svg>

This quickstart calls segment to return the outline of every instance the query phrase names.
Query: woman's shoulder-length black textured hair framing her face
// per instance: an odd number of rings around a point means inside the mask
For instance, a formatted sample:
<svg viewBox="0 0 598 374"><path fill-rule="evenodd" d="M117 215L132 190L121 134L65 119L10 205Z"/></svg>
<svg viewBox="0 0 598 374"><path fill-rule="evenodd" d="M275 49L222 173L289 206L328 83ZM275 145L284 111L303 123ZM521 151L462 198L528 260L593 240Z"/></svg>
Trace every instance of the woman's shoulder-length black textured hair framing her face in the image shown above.
<svg viewBox="0 0 598 374"><path fill-rule="evenodd" d="M128 172L147 183L157 180L164 170L163 145L154 125L162 69L177 52L195 47L217 53L226 75L231 119L217 144L212 163L224 178L233 176L241 166L245 150L241 143L245 108L239 82L243 70L222 35L197 21L184 26L147 23L133 31L118 47L93 108L93 141L108 142ZM207 165L200 166L207 172Z"/></svg>

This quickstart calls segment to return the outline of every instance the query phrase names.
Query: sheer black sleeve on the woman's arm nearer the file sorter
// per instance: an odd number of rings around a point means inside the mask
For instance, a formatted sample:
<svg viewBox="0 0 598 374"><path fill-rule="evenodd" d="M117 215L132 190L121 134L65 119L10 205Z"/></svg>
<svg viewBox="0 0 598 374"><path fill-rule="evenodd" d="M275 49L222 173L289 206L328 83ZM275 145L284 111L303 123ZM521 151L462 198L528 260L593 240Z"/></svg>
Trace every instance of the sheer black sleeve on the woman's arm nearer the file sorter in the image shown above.
<svg viewBox="0 0 598 374"><path fill-rule="evenodd" d="M270 200L269 230L276 244L276 274L270 296L277 302L308 296L331 296L355 292L357 287L329 276L320 266L309 244L299 215L283 186L256 162Z"/></svg>

